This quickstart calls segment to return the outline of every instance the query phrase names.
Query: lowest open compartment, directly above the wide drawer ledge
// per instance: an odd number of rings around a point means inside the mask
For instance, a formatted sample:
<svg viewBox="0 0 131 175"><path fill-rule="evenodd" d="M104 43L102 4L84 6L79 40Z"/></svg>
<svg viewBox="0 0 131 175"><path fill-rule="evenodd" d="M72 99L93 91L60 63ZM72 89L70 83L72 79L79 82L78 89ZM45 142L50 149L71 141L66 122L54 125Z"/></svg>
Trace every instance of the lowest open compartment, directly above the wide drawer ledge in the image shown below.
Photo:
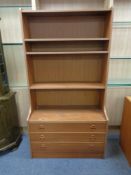
<svg viewBox="0 0 131 175"><path fill-rule="evenodd" d="M103 89L35 89L30 93L33 109L100 109L104 97Z"/></svg>

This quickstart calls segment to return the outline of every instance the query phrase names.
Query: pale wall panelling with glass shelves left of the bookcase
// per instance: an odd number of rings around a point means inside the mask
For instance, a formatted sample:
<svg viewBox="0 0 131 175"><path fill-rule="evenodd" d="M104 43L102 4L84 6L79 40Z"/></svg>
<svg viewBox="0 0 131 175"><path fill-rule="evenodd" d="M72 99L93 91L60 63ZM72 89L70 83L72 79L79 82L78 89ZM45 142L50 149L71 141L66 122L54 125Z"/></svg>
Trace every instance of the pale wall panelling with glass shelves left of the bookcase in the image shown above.
<svg viewBox="0 0 131 175"><path fill-rule="evenodd" d="M19 8L31 9L30 0L0 0L0 30L4 43L4 53L9 85L16 93L16 101L21 126L26 126L29 110L27 74L22 45Z"/></svg>

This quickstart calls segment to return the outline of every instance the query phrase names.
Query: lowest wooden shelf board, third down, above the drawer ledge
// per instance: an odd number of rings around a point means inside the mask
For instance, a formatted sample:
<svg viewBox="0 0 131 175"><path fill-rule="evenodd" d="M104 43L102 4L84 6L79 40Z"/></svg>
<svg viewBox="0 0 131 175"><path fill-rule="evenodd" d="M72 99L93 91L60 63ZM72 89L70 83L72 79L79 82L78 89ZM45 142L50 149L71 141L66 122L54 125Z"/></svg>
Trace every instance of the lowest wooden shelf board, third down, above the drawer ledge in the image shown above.
<svg viewBox="0 0 131 175"><path fill-rule="evenodd" d="M105 85L102 83L36 83L32 84L30 89L105 89Z"/></svg>

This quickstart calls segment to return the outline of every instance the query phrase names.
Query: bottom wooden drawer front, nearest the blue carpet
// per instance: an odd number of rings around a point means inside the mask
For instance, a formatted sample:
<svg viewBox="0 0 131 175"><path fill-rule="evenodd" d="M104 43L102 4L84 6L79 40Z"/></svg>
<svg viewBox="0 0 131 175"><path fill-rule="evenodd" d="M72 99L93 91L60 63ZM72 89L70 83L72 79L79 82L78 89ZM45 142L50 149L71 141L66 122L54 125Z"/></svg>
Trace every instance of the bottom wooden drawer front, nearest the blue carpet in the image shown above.
<svg viewBox="0 0 131 175"><path fill-rule="evenodd" d="M31 143L32 152L55 153L103 153L104 143Z"/></svg>

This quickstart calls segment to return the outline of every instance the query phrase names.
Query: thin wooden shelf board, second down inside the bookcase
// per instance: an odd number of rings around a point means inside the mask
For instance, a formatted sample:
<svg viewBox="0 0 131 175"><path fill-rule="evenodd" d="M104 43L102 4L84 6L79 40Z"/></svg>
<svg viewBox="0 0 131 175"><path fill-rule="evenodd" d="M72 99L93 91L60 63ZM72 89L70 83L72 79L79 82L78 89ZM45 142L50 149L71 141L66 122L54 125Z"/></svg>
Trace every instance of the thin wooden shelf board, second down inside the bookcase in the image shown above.
<svg viewBox="0 0 131 175"><path fill-rule="evenodd" d="M75 51L75 52L26 52L27 55L74 55L74 54L108 54L108 51Z"/></svg>

